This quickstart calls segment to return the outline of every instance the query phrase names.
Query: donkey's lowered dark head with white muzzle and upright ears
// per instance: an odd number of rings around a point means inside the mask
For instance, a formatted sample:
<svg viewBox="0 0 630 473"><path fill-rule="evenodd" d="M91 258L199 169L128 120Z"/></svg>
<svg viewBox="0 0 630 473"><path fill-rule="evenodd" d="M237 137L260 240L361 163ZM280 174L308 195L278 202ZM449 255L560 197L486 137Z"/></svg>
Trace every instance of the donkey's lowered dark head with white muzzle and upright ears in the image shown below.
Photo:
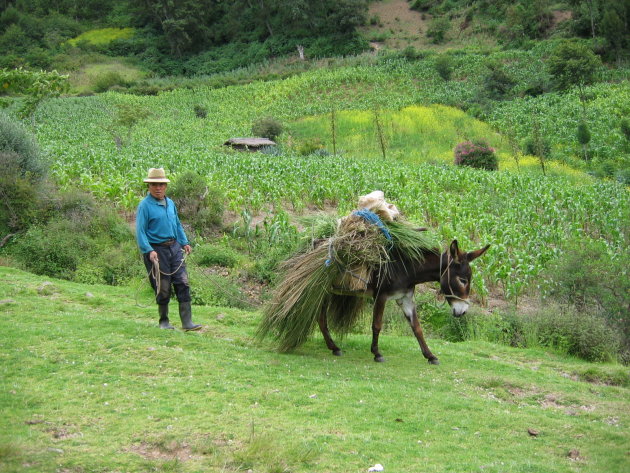
<svg viewBox="0 0 630 473"><path fill-rule="evenodd" d="M465 253L460 251L457 240L453 240L449 249L440 255L440 288L455 317L464 315L470 305L472 269L468 263L479 258L489 247Z"/></svg>

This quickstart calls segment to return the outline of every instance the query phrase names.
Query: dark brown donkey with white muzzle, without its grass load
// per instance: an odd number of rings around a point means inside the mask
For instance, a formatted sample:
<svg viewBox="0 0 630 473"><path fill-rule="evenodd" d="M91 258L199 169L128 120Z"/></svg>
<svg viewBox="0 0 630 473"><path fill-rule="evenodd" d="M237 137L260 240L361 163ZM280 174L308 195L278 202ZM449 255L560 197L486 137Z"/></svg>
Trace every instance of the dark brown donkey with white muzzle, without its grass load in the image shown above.
<svg viewBox="0 0 630 473"><path fill-rule="evenodd" d="M385 303L390 299L394 299L409 322L420 344L422 354L429 363L437 365L439 361L431 353L418 321L416 304L413 298L415 286L424 282L439 281L441 292L451 306L453 316L461 317L466 313L470 305L468 295L470 293L472 269L469 263L483 255L489 247L490 245L487 245L480 250L465 253L459 249L457 240L453 240L449 249L444 253L440 253L439 250L425 251L424 259L421 262L405 258L394 250L387 268L372 273L365 292L350 292L338 288L333 288L332 292L336 296L343 298L374 298L371 349L374 354L374 361L385 361L378 349L378 337L383 327ZM335 344L328 331L326 309L329 307L322 307L318 319L319 328L324 336L326 346L332 351L333 355L341 356L342 351Z"/></svg>

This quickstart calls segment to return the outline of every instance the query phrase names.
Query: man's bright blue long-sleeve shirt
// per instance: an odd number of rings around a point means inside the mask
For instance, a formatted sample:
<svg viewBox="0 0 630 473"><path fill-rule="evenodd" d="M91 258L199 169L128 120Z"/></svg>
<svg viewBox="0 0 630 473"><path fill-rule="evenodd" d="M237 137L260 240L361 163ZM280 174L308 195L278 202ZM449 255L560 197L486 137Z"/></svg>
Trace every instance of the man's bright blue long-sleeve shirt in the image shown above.
<svg viewBox="0 0 630 473"><path fill-rule="evenodd" d="M138 205L136 212L136 240L142 253L153 251L151 244L175 239L188 245L188 238L177 215L175 203L165 197L165 205L151 194Z"/></svg>

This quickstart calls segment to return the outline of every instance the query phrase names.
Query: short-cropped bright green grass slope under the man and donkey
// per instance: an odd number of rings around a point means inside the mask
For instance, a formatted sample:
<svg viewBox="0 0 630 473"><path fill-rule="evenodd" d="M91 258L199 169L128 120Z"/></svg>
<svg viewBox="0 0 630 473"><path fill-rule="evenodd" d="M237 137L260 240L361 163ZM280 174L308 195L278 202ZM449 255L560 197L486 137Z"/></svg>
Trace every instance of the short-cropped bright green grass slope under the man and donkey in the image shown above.
<svg viewBox="0 0 630 473"><path fill-rule="evenodd" d="M321 338L281 355L252 342L256 312L195 307L206 329L185 334L157 329L149 301L0 268L2 471L627 467L619 367L430 340L436 367L396 335L383 364L367 335L341 358Z"/></svg>

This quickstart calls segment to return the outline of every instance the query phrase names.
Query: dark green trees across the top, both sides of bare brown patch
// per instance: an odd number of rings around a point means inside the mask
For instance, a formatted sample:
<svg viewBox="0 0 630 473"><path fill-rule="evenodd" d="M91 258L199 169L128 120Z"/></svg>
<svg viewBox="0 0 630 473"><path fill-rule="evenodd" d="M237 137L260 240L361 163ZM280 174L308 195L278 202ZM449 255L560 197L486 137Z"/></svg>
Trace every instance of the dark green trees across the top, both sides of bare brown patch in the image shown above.
<svg viewBox="0 0 630 473"><path fill-rule="evenodd" d="M0 68L79 68L79 54L134 57L157 75L225 72L296 54L320 58L368 49L357 28L374 0L0 0ZM507 48L548 38L592 39L605 61L630 58L630 0L409 0L427 15L426 35L495 37ZM67 43L97 28L134 34ZM420 34L420 33L419 33Z"/></svg>

